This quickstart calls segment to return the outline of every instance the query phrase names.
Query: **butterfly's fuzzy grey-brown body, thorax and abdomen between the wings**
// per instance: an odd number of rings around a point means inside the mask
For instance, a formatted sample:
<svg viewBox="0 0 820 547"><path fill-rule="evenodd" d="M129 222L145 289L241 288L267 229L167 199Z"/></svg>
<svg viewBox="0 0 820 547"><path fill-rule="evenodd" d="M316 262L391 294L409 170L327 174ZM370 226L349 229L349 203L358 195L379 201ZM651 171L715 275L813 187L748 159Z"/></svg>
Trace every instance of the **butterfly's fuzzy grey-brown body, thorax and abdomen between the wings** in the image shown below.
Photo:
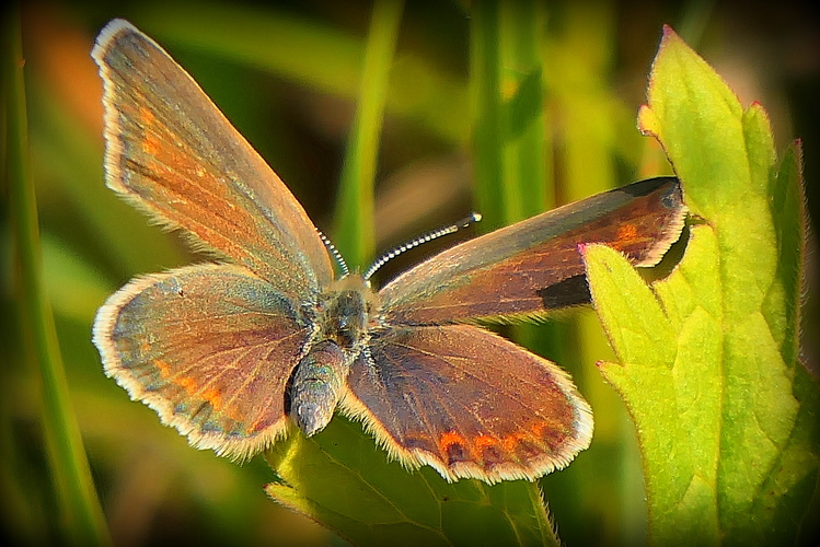
<svg viewBox="0 0 820 547"><path fill-rule="evenodd" d="M316 306L315 335L291 379L290 416L307 435L321 431L333 417L350 365L367 344L373 293L360 276L340 279Z"/></svg>

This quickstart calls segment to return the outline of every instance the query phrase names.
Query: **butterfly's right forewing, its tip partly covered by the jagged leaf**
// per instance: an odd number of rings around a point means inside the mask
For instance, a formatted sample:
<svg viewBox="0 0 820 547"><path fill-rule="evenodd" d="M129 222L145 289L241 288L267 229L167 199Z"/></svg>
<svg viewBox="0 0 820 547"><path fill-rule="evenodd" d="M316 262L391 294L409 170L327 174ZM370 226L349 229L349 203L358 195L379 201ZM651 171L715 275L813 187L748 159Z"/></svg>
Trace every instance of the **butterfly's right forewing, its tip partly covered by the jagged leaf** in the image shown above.
<svg viewBox="0 0 820 547"><path fill-rule="evenodd" d="M380 295L385 321L436 325L539 315L588 300L578 245L603 243L657 264L683 228L680 183L634 183L462 243L408 270ZM561 289L566 289L562 293Z"/></svg>

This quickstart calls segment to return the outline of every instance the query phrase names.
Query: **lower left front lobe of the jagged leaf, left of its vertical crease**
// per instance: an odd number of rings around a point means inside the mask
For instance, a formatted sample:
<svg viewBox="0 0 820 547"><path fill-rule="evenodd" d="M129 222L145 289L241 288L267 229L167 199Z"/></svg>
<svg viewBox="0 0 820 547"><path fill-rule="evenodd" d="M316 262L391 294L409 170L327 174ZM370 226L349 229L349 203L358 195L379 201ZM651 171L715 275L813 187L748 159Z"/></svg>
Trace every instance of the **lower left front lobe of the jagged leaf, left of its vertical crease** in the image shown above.
<svg viewBox="0 0 820 547"><path fill-rule="evenodd" d="M659 545L707 545L719 537L720 310L717 276L708 269L714 246L708 228L693 229L685 261L666 281L675 299L662 304L616 252L596 246L586 255L596 307L620 361L601 363L601 372L638 428L649 534Z"/></svg>

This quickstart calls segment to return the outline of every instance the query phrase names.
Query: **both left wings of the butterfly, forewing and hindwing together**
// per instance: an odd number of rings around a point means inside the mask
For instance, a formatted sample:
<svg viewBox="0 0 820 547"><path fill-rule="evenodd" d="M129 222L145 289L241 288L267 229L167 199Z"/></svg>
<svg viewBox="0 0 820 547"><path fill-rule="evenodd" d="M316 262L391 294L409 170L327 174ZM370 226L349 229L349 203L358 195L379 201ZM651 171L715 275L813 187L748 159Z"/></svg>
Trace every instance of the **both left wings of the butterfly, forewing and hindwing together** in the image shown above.
<svg viewBox="0 0 820 547"><path fill-rule="evenodd" d="M289 427L287 383L333 269L301 206L194 80L112 21L92 53L104 83L107 185L233 264L138 278L97 312L105 373L198 447L243 458Z"/></svg>

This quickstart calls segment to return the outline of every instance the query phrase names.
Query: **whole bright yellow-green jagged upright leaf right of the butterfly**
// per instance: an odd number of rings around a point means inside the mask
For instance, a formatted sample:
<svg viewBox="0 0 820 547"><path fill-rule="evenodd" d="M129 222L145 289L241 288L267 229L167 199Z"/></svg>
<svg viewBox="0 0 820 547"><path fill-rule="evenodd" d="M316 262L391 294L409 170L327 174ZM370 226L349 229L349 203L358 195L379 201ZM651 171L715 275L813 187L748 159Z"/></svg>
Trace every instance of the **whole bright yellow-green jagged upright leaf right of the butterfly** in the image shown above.
<svg viewBox="0 0 820 547"><path fill-rule="evenodd" d="M743 110L670 28L644 132L658 138L703 219L650 290L590 247L593 300L620 364L655 544L794 543L818 476L818 384L797 360L804 246L799 150L779 166L763 108Z"/></svg>

